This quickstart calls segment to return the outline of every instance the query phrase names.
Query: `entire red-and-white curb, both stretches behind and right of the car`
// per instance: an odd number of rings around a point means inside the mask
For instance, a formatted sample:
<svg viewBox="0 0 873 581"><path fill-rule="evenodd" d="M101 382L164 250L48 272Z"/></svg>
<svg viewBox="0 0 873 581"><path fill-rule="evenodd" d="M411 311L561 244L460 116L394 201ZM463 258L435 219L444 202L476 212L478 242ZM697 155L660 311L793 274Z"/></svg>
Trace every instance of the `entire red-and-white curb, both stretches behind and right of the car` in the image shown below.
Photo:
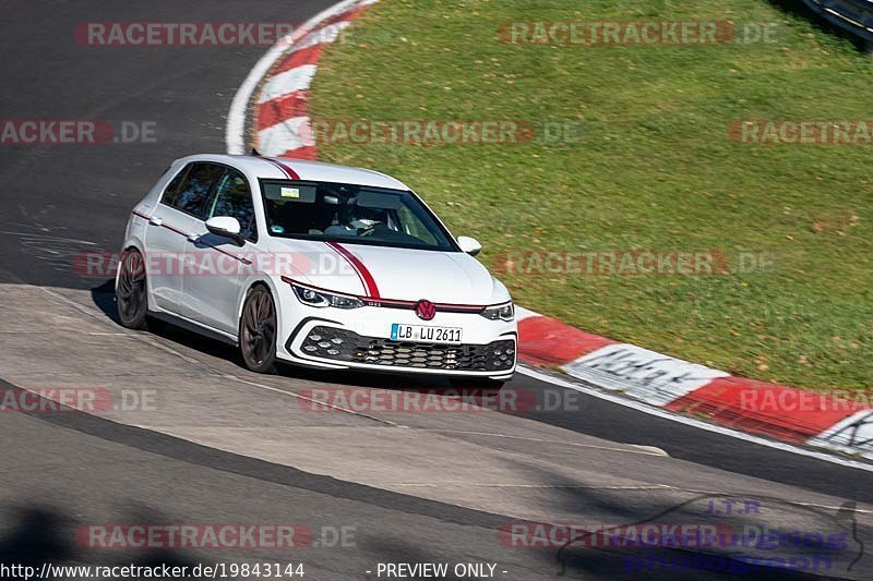
<svg viewBox="0 0 873 581"><path fill-rule="evenodd" d="M246 154L249 147L255 147L266 156L315 159L308 101L318 61L324 47L335 41L355 16L378 1L345 0L328 8L258 61L237 92L228 114L228 153ZM517 308L517 315L521 362L558 367L594 386L605 399L630 404L627 398L631 398L644 404L631 407L655 415L758 444L774 445L772 440L745 434L873 459L873 409L869 406L734 377L591 335L523 307ZM529 370L524 373L555 383L548 375ZM613 398L609 392L622 397ZM705 417L709 423L693 416ZM800 448L791 449L806 453ZM808 456L828 460L827 455L809 452ZM846 463L871 468L851 460Z"/></svg>

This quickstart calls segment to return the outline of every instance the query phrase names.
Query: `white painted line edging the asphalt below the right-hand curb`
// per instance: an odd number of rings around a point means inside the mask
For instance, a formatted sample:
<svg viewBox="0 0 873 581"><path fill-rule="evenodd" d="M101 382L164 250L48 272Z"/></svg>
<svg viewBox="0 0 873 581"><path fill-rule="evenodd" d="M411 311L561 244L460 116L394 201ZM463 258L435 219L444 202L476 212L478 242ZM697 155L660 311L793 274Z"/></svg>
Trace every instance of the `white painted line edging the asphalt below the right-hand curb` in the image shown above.
<svg viewBox="0 0 873 581"><path fill-rule="evenodd" d="M685 424L706 432L713 432L714 434L720 434L722 436L729 436L744 441L751 441L753 444L757 444L760 446L766 446L767 448L773 448L775 450L791 452L799 456L805 456L808 458L814 458L816 460L824 460L825 462L830 462L833 464L839 464L848 468L857 468L858 470L863 470L865 472L873 472L873 464L859 462L857 460L850 460L848 458L839 458L836 456L832 456L827 452L817 452L814 450L808 450L805 448L800 448L791 444L775 441L767 438L763 438L761 436L746 434L744 432L738 432L729 427L723 427L716 424L709 424L701 420L695 420L694 417L687 417L685 415L679 415L666 410L661 410L660 408L654 408L641 401L625 399L619 396L613 396L612 394L605 394L599 389L593 389L590 387L577 384L575 382L569 382L566 379L561 379L560 377L552 377L549 374L541 373L523 365L519 365L517 371L518 373L527 375L528 377L533 377L534 379L538 379L547 384L557 385L559 387L563 387L566 389L573 389L574 391L579 391L582 394L586 394L588 396L593 396L598 399L602 399L612 403L618 403L619 406L624 406L625 408L631 408L636 411L654 415L656 417L662 417L665 420L670 420L672 422Z"/></svg>

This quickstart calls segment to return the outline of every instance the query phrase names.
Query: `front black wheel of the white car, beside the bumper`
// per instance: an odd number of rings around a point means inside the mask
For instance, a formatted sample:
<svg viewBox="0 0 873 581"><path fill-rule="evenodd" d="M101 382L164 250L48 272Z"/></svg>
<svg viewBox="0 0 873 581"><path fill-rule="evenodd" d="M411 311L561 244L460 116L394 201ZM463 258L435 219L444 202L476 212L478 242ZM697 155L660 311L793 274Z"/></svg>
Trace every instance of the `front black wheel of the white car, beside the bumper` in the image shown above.
<svg viewBox="0 0 873 581"><path fill-rule="evenodd" d="M276 305L265 287L249 290L239 317L239 352L246 367L255 373L276 368Z"/></svg>

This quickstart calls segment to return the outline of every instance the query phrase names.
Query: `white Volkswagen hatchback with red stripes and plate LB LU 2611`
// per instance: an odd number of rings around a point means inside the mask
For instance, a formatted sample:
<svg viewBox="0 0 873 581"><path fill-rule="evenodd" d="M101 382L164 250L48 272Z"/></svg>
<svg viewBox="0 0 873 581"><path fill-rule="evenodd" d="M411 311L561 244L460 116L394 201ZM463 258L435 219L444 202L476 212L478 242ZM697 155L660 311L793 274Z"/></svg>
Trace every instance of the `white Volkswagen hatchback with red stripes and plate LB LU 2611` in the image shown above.
<svg viewBox="0 0 873 581"><path fill-rule="evenodd" d="M255 372L280 360L491 385L515 370L517 328L479 250L383 173L195 155L128 221L118 314L236 344Z"/></svg>

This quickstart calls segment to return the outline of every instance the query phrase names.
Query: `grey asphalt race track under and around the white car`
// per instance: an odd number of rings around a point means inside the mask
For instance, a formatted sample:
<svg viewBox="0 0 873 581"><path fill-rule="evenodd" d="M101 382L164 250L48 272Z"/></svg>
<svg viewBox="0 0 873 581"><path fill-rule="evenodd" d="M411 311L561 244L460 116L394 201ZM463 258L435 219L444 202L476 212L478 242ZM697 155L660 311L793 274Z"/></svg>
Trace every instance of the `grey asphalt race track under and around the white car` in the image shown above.
<svg viewBox="0 0 873 581"><path fill-rule="evenodd" d="M140 398L89 414L0 414L0 562L280 561L303 564L310 580L387 579L379 564L423 562L450 564L449 579L485 578L455 574L457 564L492 564L494 578L511 580L728 578L694 568L646 570L651 552L639 547L519 548L500 533L512 523L718 521L734 531L844 534L845 546L784 542L770 556L811 562L827 553L833 567L821 576L873 578L873 556L864 552L864 541L873 542L870 471L701 431L523 374L510 394L562 406L313 411L313 389L388 397L446 386L299 370L259 376L218 343L116 323L108 278L80 276L76 256L118 250L132 205L172 159L224 150L235 90L267 47L86 47L75 41L76 25L300 23L330 3L5 2L14 17L0 40L3 118L153 123L156 133L154 143L0 146L0 389L98 388L112 401ZM725 499L757 510L713 512ZM312 536L291 552L107 549L76 536L100 523L297 523ZM722 567L725 558L740 567L729 558L738 552L715 550ZM701 553L657 552L663 559ZM743 577L815 576L765 568Z"/></svg>

